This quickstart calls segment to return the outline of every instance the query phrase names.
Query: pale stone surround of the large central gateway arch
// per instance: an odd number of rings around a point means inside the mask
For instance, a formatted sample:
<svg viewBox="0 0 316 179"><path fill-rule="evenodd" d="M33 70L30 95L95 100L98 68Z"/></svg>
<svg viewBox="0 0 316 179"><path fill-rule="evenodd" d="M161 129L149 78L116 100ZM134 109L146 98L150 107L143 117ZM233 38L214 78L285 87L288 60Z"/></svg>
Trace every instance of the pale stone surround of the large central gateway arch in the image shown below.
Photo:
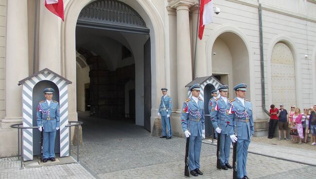
<svg viewBox="0 0 316 179"><path fill-rule="evenodd" d="M81 10L93 0L70 0L65 4L65 23L61 26L62 36L62 73L72 81L76 81L76 53L75 53L75 27ZM150 29L151 38L151 64L152 64L152 108L158 106L158 86L165 86L165 34L164 25L155 6L147 0L120 0L135 9L144 19ZM70 87L70 91L76 91L76 85ZM69 94L69 116L77 119L76 95ZM154 117L151 117L154 118Z"/></svg>

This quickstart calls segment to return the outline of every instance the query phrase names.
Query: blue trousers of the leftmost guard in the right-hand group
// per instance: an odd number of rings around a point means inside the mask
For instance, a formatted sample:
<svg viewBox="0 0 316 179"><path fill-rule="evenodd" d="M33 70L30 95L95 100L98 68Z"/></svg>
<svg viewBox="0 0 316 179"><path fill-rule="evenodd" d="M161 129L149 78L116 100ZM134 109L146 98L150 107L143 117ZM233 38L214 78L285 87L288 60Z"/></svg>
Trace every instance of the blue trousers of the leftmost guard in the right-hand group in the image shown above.
<svg viewBox="0 0 316 179"><path fill-rule="evenodd" d="M189 167L190 171L200 168L200 154L202 136L190 136L189 143Z"/></svg>

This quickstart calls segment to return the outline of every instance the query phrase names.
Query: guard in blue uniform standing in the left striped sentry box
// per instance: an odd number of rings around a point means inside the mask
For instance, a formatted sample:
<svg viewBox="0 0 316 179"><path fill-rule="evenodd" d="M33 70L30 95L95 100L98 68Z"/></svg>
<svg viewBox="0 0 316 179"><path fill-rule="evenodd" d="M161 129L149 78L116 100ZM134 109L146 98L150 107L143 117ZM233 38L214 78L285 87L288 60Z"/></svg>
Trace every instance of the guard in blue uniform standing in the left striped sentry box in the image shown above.
<svg viewBox="0 0 316 179"><path fill-rule="evenodd" d="M52 100L53 92L52 88L44 90L46 100L39 102L36 113L38 130L43 130L43 162L55 161L55 137L60 127L59 104Z"/></svg>

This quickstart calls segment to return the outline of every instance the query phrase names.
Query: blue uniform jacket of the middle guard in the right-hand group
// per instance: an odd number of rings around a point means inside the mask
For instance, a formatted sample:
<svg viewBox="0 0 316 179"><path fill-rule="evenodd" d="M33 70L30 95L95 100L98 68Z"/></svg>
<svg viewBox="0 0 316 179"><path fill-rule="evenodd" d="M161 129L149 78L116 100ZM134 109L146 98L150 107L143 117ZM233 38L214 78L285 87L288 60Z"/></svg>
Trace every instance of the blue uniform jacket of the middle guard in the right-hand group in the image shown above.
<svg viewBox="0 0 316 179"><path fill-rule="evenodd" d="M229 129L229 124L233 124L232 119L229 119L227 116L226 108L229 103L229 99L227 99L227 103L223 100L223 98L219 97L214 100L211 108L211 122L216 129L217 127L222 129L222 134L228 134L226 127Z"/></svg>

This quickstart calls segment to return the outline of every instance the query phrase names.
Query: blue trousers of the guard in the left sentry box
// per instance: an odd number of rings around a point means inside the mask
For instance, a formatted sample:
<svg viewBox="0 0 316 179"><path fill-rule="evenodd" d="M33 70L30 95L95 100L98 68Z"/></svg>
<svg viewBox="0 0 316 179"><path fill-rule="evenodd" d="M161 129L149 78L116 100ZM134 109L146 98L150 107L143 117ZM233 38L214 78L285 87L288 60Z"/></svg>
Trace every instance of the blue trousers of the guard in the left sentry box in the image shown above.
<svg viewBox="0 0 316 179"><path fill-rule="evenodd" d="M43 132L43 158L55 157L55 138L56 131Z"/></svg>

